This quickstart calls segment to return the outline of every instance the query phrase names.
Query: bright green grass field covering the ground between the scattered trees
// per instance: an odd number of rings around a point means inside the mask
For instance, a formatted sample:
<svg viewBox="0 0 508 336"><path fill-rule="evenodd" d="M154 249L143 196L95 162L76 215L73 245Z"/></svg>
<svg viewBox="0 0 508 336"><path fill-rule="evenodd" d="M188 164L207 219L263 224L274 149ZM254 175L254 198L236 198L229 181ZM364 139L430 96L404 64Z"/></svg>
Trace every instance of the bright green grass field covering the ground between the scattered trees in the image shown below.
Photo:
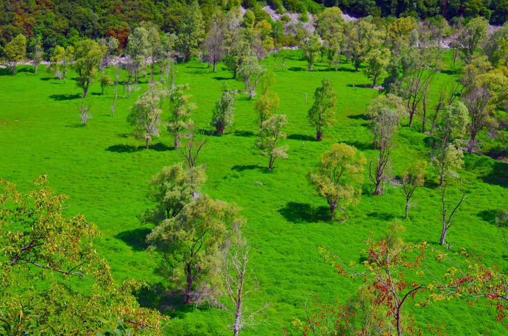
<svg viewBox="0 0 508 336"><path fill-rule="evenodd" d="M267 301L270 308L265 322L246 329L245 335L280 335L282 328L290 327L293 317L304 317L298 300L309 293L316 293L323 302L336 297L345 301L361 280L338 276L323 261L318 246L326 246L344 260L358 261L369 232L381 237L387 223L404 214L404 198L398 189L389 188L382 196L372 196L373 185L366 174L361 202L349 210L350 219L344 223L326 219L326 202L313 193L305 174L318 162L319 155L336 142L354 145L367 157L375 155L363 114L378 92L361 87L370 81L362 72L355 73L350 64L342 64L338 72L328 72L324 63L317 63L318 71L307 72L300 53L294 51L291 55L285 71L275 71L279 113L286 114L289 122L285 141L289 158L276 160L274 170L267 172L267 158L254 147L257 126L252 101L240 94L231 131L225 136L211 136L198 159L199 163L206 163L208 180L204 191L237 203L248 220L248 239L256 250L252 267L261 284L250 304L257 306ZM272 69L273 59L264 62L266 68ZM114 117L109 110L113 89L108 87L101 95L99 84L93 84L86 98L93 118L83 127L78 116L81 91L70 75L63 84L44 71L34 76L32 68L26 66L19 67L15 76L0 76L0 177L27 191L34 178L47 174L53 188L70 195L68 212L85 214L101 229L103 238L97 240L96 247L109 262L116 280L132 277L153 286L140 301L171 315L168 334L229 334L225 328L229 317L225 313L182 307L181 298L158 290L167 286L167 280L156 273L155 256L145 251L144 239L152 228L140 219L141 212L152 206L146 199L147 181L164 165L182 159L172 149L172 139L165 130L152 142L151 149L145 150L143 141L133 138L126 122L128 108L146 89L148 78L143 79L140 90L131 98L118 99ZM338 123L324 133L323 141L315 142L306 116L314 89L325 76L333 80L337 91ZM439 75L431 98L437 97L439 82L447 76ZM212 130L212 109L224 80L230 88L243 89L243 83L232 80L231 72L223 65L218 66L217 73L196 61L178 66L177 82L190 84L191 102L198 106L193 119L203 129ZM309 94L307 105L305 93ZM163 119L167 120L168 106L163 109ZM415 159L429 159L431 138L420 128L418 120L413 129L407 127L407 120L401 127L393 151L395 175ZM506 270L506 250L494 223L494 211L506 206L508 166L487 156L467 153L464 160L464 170L459 174L468 197L449 232L452 252L465 247L483 253L486 263L498 263ZM403 221L404 239L414 243L428 241L441 248L437 176L432 169L428 171L426 186L415 192L418 205ZM431 269L440 267L432 259L428 262ZM454 300L425 308L411 306L409 310L424 331L428 323L442 321L447 332L460 335L505 332L494 321L495 311L485 303L471 308L465 300Z"/></svg>

